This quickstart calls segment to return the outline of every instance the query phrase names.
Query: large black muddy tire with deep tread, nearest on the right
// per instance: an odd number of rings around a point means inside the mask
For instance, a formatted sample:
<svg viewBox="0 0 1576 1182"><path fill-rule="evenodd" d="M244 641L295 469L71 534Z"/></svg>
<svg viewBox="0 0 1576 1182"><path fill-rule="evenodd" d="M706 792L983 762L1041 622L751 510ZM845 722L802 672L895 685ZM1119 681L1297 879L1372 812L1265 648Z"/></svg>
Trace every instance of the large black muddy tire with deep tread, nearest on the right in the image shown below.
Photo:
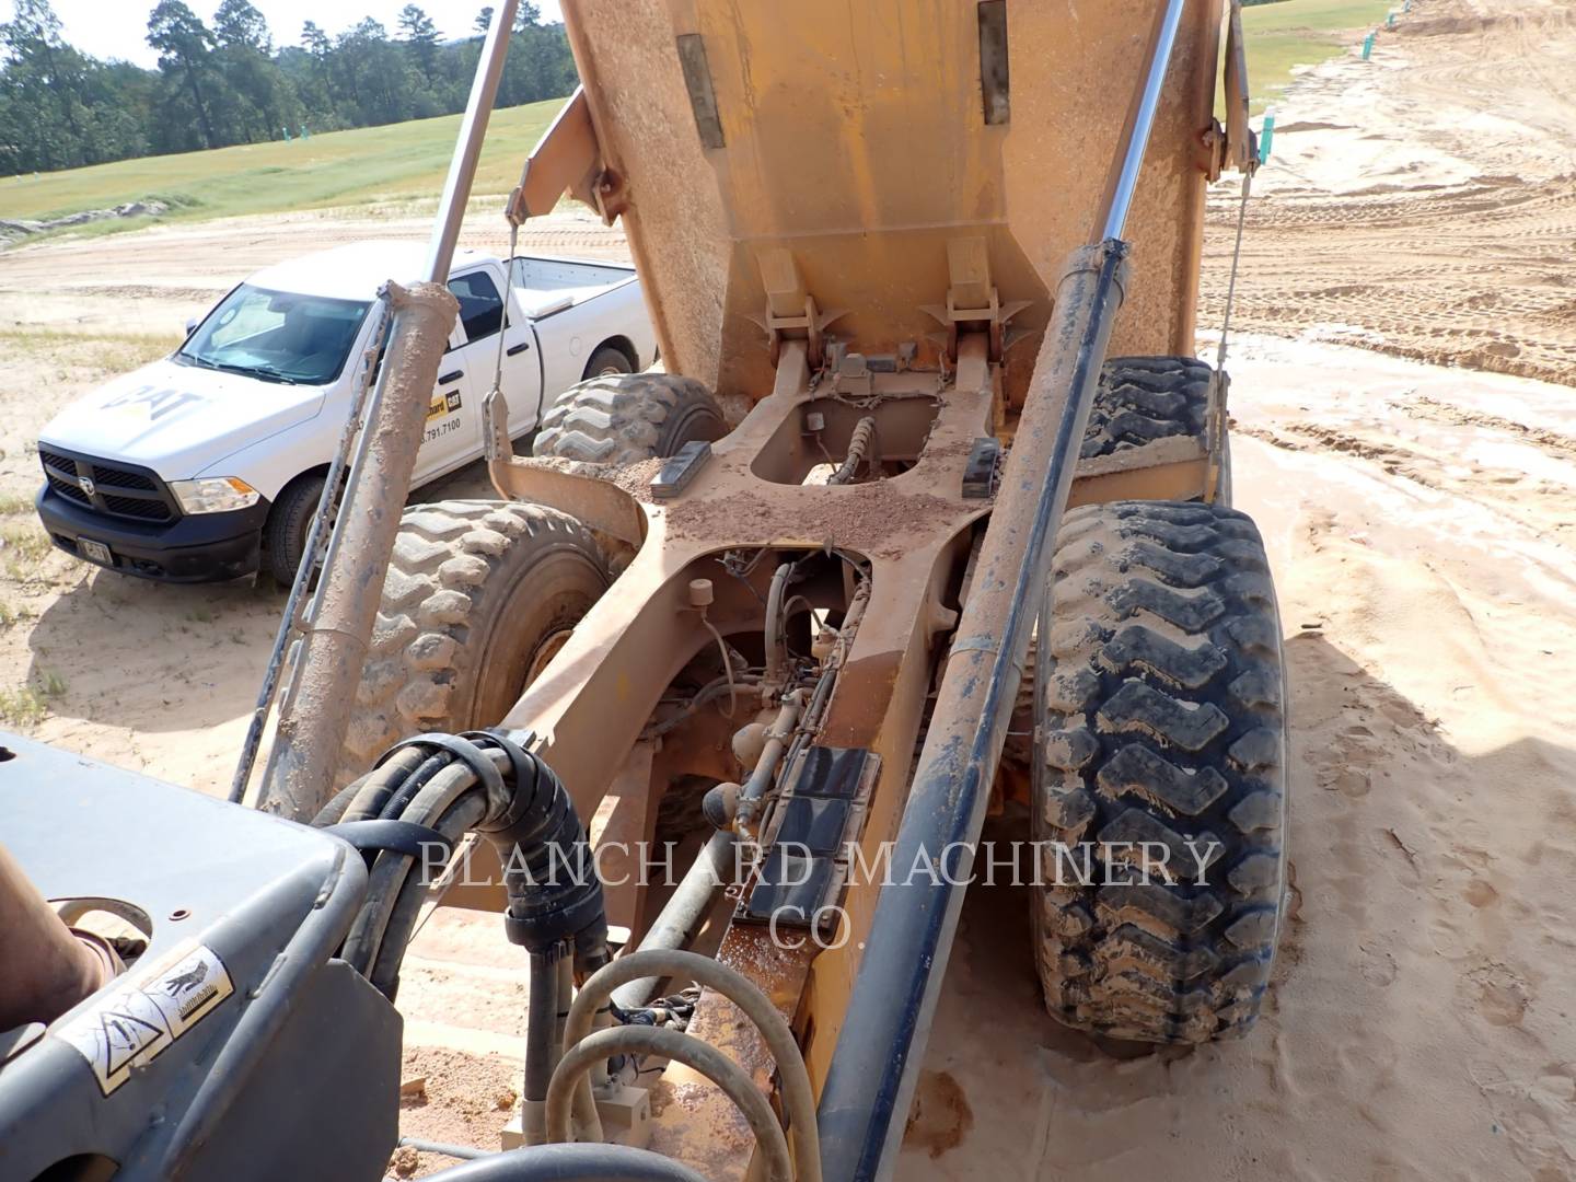
<svg viewBox="0 0 1576 1182"><path fill-rule="evenodd" d="M1114 1039L1242 1034L1284 889L1281 632L1259 533L1220 506L1075 509L1050 608L1034 768L1046 1007ZM1157 843L1166 873L1143 883L1125 842ZM1092 881L1062 860L1057 884L1054 851L1080 843Z"/></svg>

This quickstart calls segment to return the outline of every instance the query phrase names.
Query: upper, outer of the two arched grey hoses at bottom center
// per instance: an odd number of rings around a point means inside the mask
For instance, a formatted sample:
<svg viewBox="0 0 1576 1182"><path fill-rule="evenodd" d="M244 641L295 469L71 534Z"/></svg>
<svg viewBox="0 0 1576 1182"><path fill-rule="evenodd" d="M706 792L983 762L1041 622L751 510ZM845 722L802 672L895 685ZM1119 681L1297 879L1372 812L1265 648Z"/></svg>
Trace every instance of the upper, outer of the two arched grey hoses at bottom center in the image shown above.
<svg viewBox="0 0 1576 1182"><path fill-rule="evenodd" d="M799 1043L794 1040L793 1031L788 1028L788 1020L783 1018L777 1007L772 1005L771 998L761 993L760 987L756 987L749 977L730 969L727 965L719 965L711 957L679 949L641 949L640 952L632 952L627 957L619 957L605 969L599 971L585 985L582 985L574 1005L569 1007L569 1024L564 1029L564 1062L569 1061L572 1051L585 1045L582 1040L588 1040L588 1032L597 1007L602 1005L608 996L611 996L613 990L626 982L640 980L641 977L649 976L687 977L697 985L716 990L723 998L731 1001L744 1013L744 1017L755 1024L755 1029L761 1032L761 1039L766 1040L766 1048L772 1053L772 1059L777 1062L777 1075L782 1078L783 1108L788 1114L790 1132L794 1138L794 1157L799 1165L799 1177L802 1182L821 1182L821 1143L816 1130L815 1091L810 1087L810 1072L804 1065L804 1054L799 1051ZM649 1028L626 1026L623 1029L629 1031ZM591 1037L600 1037L602 1034L605 1034L605 1031L599 1031ZM678 1032L667 1031L667 1034ZM679 1037L695 1042L689 1035ZM547 1128L553 1133L555 1139L563 1138L558 1138L555 1133L558 1124L555 1122L556 1110L553 1106L553 1095L558 1094L558 1073L566 1070L567 1069L559 1064L558 1072L553 1075L555 1087L548 1092L547 1102ZM695 1070L701 1069L697 1067ZM760 1095L755 1092L753 1084L750 1086L750 1091L756 1097ZM772 1127L775 1128L775 1122ZM760 1135L756 1133L756 1136Z"/></svg>

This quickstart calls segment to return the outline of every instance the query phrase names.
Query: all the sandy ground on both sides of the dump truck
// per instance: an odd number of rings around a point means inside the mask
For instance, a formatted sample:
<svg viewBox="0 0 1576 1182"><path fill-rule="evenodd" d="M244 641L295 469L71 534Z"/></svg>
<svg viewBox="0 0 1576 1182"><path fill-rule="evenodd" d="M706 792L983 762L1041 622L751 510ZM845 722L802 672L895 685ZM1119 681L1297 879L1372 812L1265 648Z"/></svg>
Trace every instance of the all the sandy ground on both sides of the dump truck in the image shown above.
<svg viewBox="0 0 1576 1182"><path fill-rule="evenodd" d="M1576 381L1565 8L1417 0L1374 63L1311 71L1280 104L1231 362L1237 504L1277 571L1295 742L1292 922L1259 1028L1113 1059L1045 1018L1028 900L976 889L900 1177L1576 1177L1576 399L1552 385ZM1204 325L1232 213L1223 191ZM504 243L481 210L468 233ZM619 249L586 221L537 233ZM36 427L156 347L137 334L170 334L251 268L369 235L426 222L244 219L0 255L0 493L32 492ZM481 482L437 492L455 487ZM279 596L24 558L6 534L0 660L11 686L60 682L30 728L227 782ZM495 917L441 914L407 963L422 1086L405 1130L490 1147L523 985Z"/></svg>

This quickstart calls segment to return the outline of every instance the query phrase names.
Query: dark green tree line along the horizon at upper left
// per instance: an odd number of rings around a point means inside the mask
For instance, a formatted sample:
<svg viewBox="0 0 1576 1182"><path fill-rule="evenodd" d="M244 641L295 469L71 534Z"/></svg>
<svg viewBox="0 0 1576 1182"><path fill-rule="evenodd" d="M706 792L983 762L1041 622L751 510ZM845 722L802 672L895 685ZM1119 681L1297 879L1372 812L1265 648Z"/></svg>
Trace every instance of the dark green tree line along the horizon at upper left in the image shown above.
<svg viewBox="0 0 1576 1182"><path fill-rule="evenodd" d="M339 33L307 20L299 44L276 46L249 0L222 0L211 22L184 0L159 0L148 16L159 65L143 69L69 46L49 0L14 0L0 24L0 173L452 115L465 109L492 17L482 8L474 36L444 43L410 3L394 32L370 17ZM563 25L522 3L498 106L574 87Z"/></svg>

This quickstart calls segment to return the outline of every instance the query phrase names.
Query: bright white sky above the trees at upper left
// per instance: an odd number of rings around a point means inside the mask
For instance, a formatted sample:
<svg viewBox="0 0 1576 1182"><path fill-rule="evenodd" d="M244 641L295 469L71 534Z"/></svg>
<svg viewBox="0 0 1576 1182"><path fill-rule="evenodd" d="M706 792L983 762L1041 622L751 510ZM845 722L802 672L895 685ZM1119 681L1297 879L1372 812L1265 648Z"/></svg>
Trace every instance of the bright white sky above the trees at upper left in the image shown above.
<svg viewBox="0 0 1576 1182"><path fill-rule="evenodd" d="M362 17L383 22L389 35L399 33L399 11L410 0L252 0L268 17L276 46L301 44L301 25L317 24L329 36L355 25ZM438 25L444 38L474 33L476 13L489 0L416 0ZM156 0L54 0L55 13L65 25L65 38L85 54L99 58L123 58L139 66L158 63L148 47L148 13ZM188 0L203 20L213 19L219 0ZM498 0L492 0L498 6ZM0 9L9 5L0 3ZM558 20L558 0L537 0L544 20Z"/></svg>

